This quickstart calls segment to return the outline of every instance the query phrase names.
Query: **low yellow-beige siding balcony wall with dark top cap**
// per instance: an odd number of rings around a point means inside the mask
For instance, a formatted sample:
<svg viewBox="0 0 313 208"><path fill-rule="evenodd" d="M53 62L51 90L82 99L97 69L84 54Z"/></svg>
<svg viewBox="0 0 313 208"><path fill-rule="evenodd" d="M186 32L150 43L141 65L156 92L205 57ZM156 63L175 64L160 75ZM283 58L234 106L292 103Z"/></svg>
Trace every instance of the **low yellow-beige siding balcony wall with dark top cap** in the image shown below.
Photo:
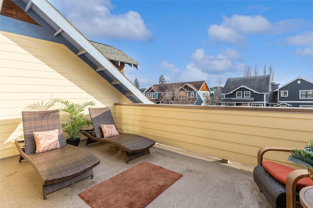
<svg viewBox="0 0 313 208"><path fill-rule="evenodd" d="M312 109L115 104L112 111L121 132L250 166L263 146L303 148L313 139ZM295 168L288 154L265 158Z"/></svg>

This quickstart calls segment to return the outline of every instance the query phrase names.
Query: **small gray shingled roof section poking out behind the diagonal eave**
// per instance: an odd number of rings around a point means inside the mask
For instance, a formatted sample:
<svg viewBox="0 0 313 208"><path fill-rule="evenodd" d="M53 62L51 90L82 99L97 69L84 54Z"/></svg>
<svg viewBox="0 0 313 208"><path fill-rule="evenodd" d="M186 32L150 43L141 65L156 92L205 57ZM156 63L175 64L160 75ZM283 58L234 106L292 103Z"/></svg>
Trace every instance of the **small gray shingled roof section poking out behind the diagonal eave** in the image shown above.
<svg viewBox="0 0 313 208"><path fill-rule="evenodd" d="M100 51L109 60L139 65L137 61L129 57L127 54L125 54L121 50L118 50L110 45L105 45L105 44L94 42L94 41L90 41L90 42L94 47L96 47L96 49L98 49L98 51Z"/></svg>

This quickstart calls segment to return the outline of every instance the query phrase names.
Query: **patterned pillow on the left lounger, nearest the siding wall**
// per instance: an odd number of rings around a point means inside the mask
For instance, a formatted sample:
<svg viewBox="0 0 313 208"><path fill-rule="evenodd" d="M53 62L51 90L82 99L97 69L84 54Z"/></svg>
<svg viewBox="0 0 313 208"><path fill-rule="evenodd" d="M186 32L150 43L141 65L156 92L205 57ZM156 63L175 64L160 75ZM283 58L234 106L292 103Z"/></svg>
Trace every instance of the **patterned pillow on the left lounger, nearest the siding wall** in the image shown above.
<svg viewBox="0 0 313 208"><path fill-rule="evenodd" d="M36 153L60 148L59 130L33 132L36 142Z"/></svg>

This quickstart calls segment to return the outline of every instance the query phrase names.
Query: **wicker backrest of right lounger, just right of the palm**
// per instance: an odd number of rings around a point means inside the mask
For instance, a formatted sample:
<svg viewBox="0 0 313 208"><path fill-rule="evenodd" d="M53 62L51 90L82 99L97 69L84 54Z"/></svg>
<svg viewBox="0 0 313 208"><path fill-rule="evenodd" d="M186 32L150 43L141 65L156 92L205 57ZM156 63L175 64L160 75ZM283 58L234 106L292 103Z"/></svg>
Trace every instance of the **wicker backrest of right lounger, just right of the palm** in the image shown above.
<svg viewBox="0 0 313 208"><path fill-rule="evenodd" d="M93 129L97 138L103 138L101 124L109 125L114 124L112 112L109 107L104 108L89 108L90 118L92 121ZM115 126L116 127L116 126Z"/></svg>

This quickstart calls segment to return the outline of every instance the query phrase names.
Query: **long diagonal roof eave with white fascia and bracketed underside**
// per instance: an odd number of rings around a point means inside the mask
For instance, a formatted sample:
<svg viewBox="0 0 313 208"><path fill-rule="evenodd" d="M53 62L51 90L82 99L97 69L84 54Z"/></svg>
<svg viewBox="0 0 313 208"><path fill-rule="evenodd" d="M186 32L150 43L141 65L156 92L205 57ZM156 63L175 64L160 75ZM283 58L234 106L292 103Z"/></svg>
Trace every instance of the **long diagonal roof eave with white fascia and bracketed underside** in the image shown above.
<svg viewBox="0 0 313 208"><path fill-rule="evenodd" d="M104 73L107 81L112 83L114 80L120 82L112 84L123 95L128 97L134 103L151 104L152 102L144 96L134 84L120 73L113 64L103 56L90 42L86 39L67 19L65 19L48 1L46 0L23 0L24 9L27 13L35 12L55 31L50 31L54 36L63 36L70 42L78 52L77 56L86 56L96 67L94 70L101 68L98 73ZM84 58L82 58L84 60ZM84 60L85 61L85 60ZM86 61L85 61L86 62ZM110 78L108 78L110 77Z"/></svg>

